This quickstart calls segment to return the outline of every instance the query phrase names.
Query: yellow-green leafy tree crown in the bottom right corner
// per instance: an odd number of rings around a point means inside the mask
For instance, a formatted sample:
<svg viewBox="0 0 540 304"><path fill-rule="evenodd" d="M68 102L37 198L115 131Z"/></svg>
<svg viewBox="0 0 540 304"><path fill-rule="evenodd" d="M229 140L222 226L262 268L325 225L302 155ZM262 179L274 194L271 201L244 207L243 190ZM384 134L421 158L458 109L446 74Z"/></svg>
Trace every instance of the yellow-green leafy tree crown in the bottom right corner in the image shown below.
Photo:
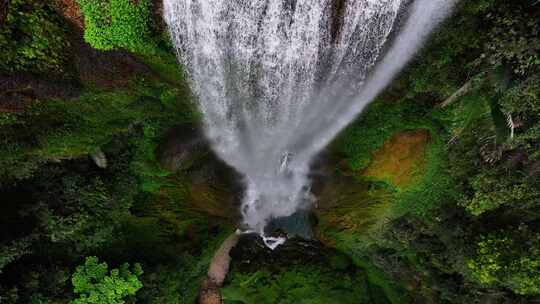
<svg viewBox="0 0 540 304"><path fill-rule="evenodd" d="M480 238L475 257L467 263L472 277L518 294L540 294L540 240L520 242L509 234L491 233Z"/></svg>

